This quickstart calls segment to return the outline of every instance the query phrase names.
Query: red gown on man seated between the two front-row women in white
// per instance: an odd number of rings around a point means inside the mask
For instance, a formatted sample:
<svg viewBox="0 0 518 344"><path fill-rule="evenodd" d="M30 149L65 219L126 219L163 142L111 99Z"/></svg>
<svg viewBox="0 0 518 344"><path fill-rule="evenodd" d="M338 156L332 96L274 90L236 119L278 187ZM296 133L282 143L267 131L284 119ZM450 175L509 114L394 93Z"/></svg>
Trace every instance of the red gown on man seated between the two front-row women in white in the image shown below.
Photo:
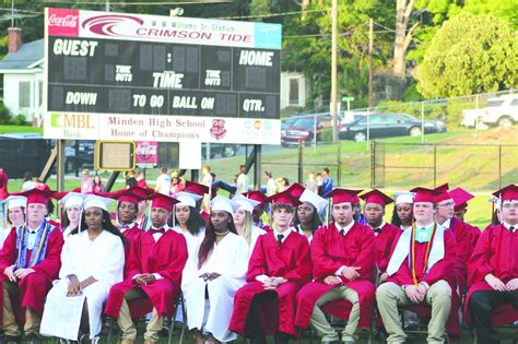
<svg viewBox="0 0 518 344"><path fill-rule="evenodd" d="M141 273L158 273L163 278L141 288L161 317L164 315L172 317L175 308L174 299L180 293L181 271L186 261L187 244L181 234L169 229L155 242L150 232L143 232L131 245L128 276L109 290L106 315L114 318L119 316L126 292L137 287L133 276ZM140 313L132 309L132 315Z"/></svg>

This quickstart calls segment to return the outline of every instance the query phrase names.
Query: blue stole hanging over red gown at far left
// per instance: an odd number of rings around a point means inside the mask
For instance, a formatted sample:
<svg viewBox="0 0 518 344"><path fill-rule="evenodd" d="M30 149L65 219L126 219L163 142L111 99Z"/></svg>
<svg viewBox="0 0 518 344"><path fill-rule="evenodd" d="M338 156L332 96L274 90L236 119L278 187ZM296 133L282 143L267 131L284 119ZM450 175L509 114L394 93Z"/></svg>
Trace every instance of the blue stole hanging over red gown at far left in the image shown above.
<svg viewBox="0 0 518 344"><path fill-rule="evenodd" d="M43 228L42 228L43 227ZM27 244L28 244L28 234L26 230L26 225L22 225L16 229L16 270L34 268L36 264L40 263L44 260L45 252L47 250L48 235L54 230L54 226L50 226L50 223L46 220L39 226L37 232L36 240L34 241L34 247L31 250L31 259L27 264ZM35 248L37 249L35 250ZM35 252L36 251L36 252Z"/></svg>

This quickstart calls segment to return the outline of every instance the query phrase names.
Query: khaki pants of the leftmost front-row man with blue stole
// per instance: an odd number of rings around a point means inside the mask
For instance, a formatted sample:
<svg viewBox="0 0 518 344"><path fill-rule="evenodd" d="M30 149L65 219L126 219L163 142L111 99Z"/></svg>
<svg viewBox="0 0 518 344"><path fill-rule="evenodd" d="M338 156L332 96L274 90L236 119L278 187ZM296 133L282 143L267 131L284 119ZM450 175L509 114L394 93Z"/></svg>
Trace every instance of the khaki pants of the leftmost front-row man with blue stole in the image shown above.
<svg viewBox="0 0 518 344"><path fill-rule="evenodd" d="M19 336L22 334L20 328L14 318L14 311L11 304L11 297L20 297L20 288L16 283L11 281L3 281L3 331L5 335ZM39 334L39 323L42 317L39 317L33 309L25 308L25 324L23 331L27 334Z"/></svg>

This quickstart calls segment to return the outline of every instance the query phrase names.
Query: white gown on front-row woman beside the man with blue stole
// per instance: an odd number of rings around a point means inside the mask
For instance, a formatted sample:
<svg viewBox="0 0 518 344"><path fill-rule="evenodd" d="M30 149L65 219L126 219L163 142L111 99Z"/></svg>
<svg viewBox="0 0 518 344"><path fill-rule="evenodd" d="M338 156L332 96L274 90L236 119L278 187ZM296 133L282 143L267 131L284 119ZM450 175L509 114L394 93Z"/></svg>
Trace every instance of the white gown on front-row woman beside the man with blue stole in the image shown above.
<svg viewBox="0 0 518 344"><path fill-rule="evenodd" d="M103 230L94 241L86 230L69 236L61 251L60 280L50 289L45 304L40 333L76 341L84 298L89 307L90 339L102 328L103 304L110 287L122 281L125 249L122 240ZM84 281L93 276L97 282L89 285L79 296L67 297L69 275ZM64 325L67 324L67 325Z"/></svg>

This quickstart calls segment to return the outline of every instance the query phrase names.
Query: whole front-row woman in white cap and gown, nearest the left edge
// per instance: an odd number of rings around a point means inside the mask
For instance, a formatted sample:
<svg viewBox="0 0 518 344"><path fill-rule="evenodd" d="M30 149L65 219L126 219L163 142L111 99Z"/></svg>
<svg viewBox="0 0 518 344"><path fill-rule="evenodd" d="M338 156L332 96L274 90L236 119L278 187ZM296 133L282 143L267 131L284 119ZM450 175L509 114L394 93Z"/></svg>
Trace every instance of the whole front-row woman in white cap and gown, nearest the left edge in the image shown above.
<svg viewBox="0 0 518 344"><path fill-rule="evenodd" d="M110 199L89 194L79 233L72 233L61 251L60 280L45 304L40 333L76 341L90 333L98 342L103 304L111 285L122 281L126 238L111 224Z"/></svg>

